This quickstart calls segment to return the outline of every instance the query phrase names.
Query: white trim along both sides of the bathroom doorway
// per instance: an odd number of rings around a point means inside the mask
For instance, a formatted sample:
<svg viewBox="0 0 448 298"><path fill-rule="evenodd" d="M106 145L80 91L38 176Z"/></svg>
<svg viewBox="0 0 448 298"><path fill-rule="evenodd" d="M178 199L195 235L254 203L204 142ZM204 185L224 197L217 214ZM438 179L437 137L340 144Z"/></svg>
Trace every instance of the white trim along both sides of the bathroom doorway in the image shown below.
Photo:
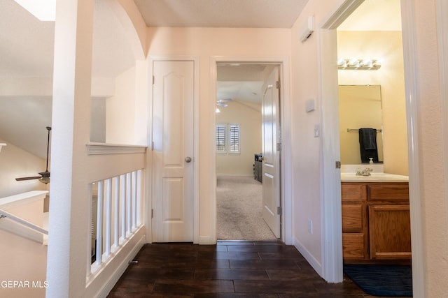
<svg viewBox="0 0 448 298"><path fill-rule="evenodd" d="M337 98L337 80L334 77L325 76L325 73L335 73L335 64L325 64L328 59L336 61L335 53L337 53L337 44L335 43L335 28L345 20L349 15L348 12L354 10L363 0L346 0L342 5L335 10L334 13L324 20L323 25L320 26L321 40L320 40L320 70L321 70L321 98L322 110L329 114L337 114L335 106L331 103L331 99ZM417 108L419 102L418 94L418 80L416 78L417 57L414 54L416 31L412 17L414 15L413 1L401 1L402 8L402 36L405 62L405 89L406 89L406 118L407 118L407 132L408 132L408 156L409 156L409 202L411 208L411 234L412 234L412 278L414 297L424 296L424 249L423 249L423 234L421 232L421 207L420 207L420 170L419 170L419 148L417 127ZM338 124L333 121L323 121L322 131L330 131L333 135L325 135L323 137L323 148L328 148L329 145L335 142L334 128ZM325 120L325 119L324 119ZM331 133L330 133L331 134ZM341 216L331 216L325 218L332 211L330 208L335 207L334 196L331 197L331 191L337 191L337 184L340 184L340 176L335 174L328 174L334 171L334 162L337 161L339 155L333 151L323 151L323 211L321 214L323 221L323 278L329 282L342 281L342 253L335 253L332 249L342 248L342 239L339 234L335 234L334 228L338 228L342 224ZM328 161L328 162L325 162ZM339 171L337 171L339 172ZM339 206L340 207L340 206ZM339 212L338 212L339 214ZM333 225L333 228L331 226ZM339 230L340 231L340 230Z"/></svg>

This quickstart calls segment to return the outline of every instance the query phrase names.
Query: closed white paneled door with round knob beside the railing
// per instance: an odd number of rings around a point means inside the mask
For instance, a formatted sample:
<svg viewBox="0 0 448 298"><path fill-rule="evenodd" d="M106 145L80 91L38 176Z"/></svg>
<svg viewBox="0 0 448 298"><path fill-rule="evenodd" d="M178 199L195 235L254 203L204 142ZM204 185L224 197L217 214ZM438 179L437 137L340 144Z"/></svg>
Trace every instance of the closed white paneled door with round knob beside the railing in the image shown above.
<svg viewBox="0 0 448 298"><path fill-rule="evenodd" d="M193 241L194 61L153 61L153 242Z"/></svg>

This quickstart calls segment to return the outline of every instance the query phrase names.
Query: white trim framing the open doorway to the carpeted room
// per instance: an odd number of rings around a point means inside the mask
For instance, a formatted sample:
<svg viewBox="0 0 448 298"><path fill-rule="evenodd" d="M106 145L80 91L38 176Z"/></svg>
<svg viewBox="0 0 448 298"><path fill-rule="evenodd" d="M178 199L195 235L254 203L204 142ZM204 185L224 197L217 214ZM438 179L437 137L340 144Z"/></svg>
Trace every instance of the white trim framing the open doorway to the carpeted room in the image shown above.
<svg viewBox="0 0 448 298"><path fill-rule="evenodd" d="M283 209L282 223L281 223L281 240L285 244L293 244L293 224L292 224L292 177L291 164L285 161L291 160L290 151L290 78L289 78L289 58L288 57L232 57L232 56L214 56L210 57L210 98L216 98L216 65L220 62L235 62L235 63L254 63L254 64L277 64L280 67L280 92L281 92L281 206ZM216 124L215 105L210 105L209 111L214 119L211 124L213 127ZM211 130L214 133L214 130ZM215 140L214 136L211 140ZM214 148L214 147L213 147ZM215 152L213 152L215 154ZM212 159L211 169L216 169L216 161ZM213 179L216 181L216 171L213 172ZM212 238L216 243L216 182L211 191L211 227Z"/></svg>

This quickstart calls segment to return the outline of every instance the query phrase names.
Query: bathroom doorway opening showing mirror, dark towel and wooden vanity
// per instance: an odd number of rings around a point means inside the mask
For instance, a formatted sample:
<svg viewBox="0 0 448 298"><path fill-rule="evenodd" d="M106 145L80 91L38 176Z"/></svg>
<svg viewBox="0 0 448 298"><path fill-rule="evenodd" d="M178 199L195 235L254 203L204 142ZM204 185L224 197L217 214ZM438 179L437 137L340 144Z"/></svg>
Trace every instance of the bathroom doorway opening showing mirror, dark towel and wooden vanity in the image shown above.
<svg viewBox="0 0 448 298"><path fill-rule="evenodd" d="M383 17L388 22L382 22ZM377 206L370 205L368 195L367 206L363 205L360 208L361 212L365 212L362 218L365 218L367 225L357 230L357 228L349 227L344 221L356 214L356 211L349 209L358 202L355 200L349 203L344 195L350 187L346 178L349 174L346 173L354 173L356 168L372 170L372 175L381 175L383 172L391 174L391 178L395 180L389 182L405 181L402 187L407 190L409 172L405 70L402 53L400 0L365 0L337 27L340 161L344 178L342 179L344 262L363 260L381 262L386 260L385 255L388 255L389 262L410 262L411 241L407 195L404 195L400 202L402 208L407 210L398 211L401 208L398 204L388 203L390 205L387 213L381 214L385 218L397 216L391 221L402 234L393 235L392 230L380 230L374 215L377 213L375 209ZM347 59L348 57L351 58ZM358 60L353 60L353 57ZM372 147L360 146L363 135L361 131L367 131L372 135L374 140ZM369 156L372 156L370 157L371 164L369 164ZM388 184L387 187L392 186ZM367 184L367 188L371 191L372 185ZM354 252L355 244L349 242L353 237L360 236L361 231L363 241L360 240L356 244L360 249ZM379 243L386 237L394 238L394 244Z"/></svg>

